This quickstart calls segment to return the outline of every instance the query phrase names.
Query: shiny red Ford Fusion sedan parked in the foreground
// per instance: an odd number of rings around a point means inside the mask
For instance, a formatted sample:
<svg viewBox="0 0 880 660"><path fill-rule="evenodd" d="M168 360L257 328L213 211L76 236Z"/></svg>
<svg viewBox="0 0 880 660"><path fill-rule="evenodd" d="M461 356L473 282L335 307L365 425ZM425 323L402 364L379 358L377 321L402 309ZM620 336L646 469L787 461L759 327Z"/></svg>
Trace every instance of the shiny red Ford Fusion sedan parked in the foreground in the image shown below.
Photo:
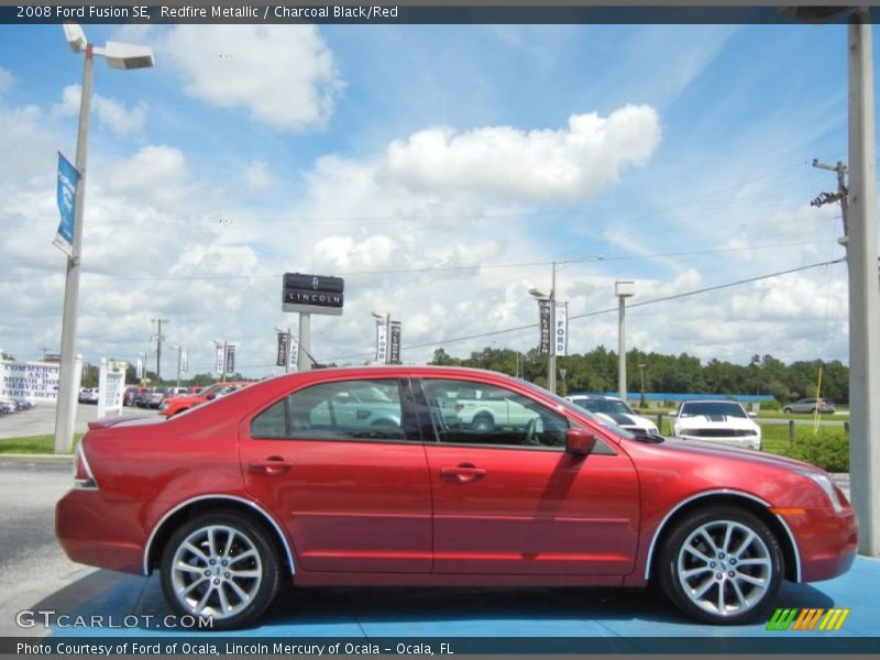
<svg viewBox="0 0 880 660"><path fill-rule="evenodd" d="M458 417L459 396L493 411ZM527 411L527 413L524 413ZM502 374L280 376L167 421L91 422L56 530L74 561L158 570L215 627L298 585L659 583L698 620L763 616L781 581L849 569L857 526L821 470L603 426Z"/></svg>

